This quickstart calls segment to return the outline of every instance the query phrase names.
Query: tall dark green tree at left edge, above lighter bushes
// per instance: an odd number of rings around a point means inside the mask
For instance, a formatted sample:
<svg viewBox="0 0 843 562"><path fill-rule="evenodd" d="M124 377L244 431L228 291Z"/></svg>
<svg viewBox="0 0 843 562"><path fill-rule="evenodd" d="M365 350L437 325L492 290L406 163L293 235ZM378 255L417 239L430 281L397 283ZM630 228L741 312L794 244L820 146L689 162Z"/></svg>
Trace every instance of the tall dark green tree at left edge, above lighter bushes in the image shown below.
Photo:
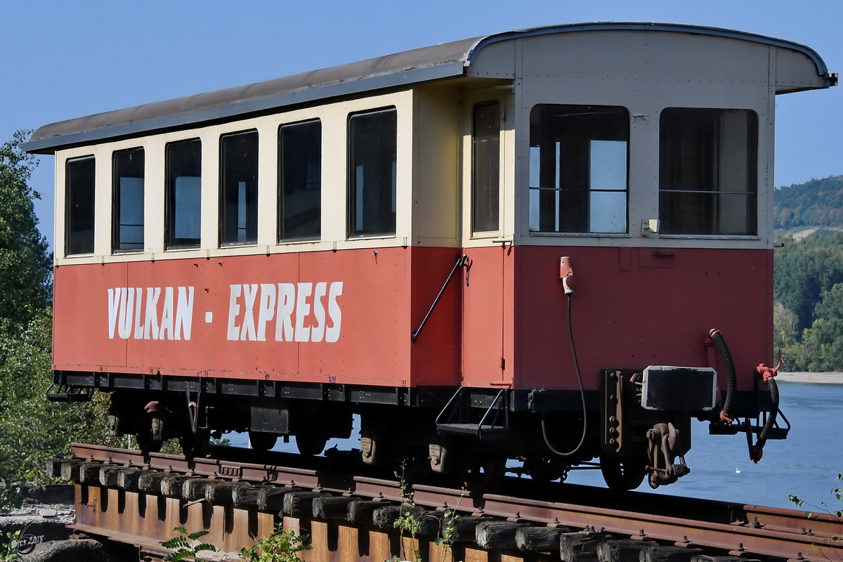
<svg viewBox="0 0 843 562"><path fill-rule="evenodd" d="M52 255L38 231L29 185L35 158L23 151L29 131L0 147L0 318L26 324L50 306Z"/></svg>

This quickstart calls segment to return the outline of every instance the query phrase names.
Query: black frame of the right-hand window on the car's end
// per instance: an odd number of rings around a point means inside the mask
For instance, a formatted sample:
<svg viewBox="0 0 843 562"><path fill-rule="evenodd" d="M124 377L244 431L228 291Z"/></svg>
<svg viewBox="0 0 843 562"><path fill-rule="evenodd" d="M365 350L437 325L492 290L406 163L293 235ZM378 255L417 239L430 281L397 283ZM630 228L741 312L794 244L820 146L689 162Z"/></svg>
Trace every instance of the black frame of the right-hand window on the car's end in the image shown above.
<svg viewBox="0 0 843 562"><path fill-rule="evenodd" d="M760 202L761 202L761 174L759 174L759 163L763 161L762 154L761 154L761 118L758 111L748 108L748 107L691 107L691 106L681 106L681 105L670 105L668 107L663 107L659 110L658 115L658 128L659 128L659 139L658 139L658 186L657 186L657 193L658 193L658 203L657 203L657 214L659 221L662 220L661 217L661 207L662 207L662 120L665 110L701 110L701 111L746 111L748 115L754 116L754 138L747 139L748 147L747 147L747 171L752 170L752 174L754 175L754 193L752 191L714 191L712 190L711 193L733 193L733 194L743 194L749 195L751 198L754 195L754 234L717 234L717 233L658 233L658 238L674 238L674 239L695 239L695 240L760 240L761 232L765 229L764 225L761 222L761 213L760 213ZM754 150L752 150L754 148ZM754 166L751 166L750 163L754 162ZM668 190L669 192L681 191L681 190ZM749 204L747 205L749 209ZM661 231L662 228L660 227L659 230Z"/></svg>

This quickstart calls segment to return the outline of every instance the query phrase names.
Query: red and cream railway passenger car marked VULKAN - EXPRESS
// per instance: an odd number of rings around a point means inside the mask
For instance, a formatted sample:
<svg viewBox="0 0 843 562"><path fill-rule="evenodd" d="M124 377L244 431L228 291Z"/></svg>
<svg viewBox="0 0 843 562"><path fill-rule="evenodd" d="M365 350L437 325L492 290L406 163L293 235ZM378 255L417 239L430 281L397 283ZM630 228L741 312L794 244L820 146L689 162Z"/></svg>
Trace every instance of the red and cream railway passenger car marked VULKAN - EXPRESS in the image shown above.
<svg viewBox="0 0 843 562"><path fill-rule="evenodd" d="M757 461L787 435L776 95L836 81L786 40L574 24L41 127L49 397L193 455L315 454L358 414L363 462L481 486L507 458L669 484L694 417Z"/></svg>

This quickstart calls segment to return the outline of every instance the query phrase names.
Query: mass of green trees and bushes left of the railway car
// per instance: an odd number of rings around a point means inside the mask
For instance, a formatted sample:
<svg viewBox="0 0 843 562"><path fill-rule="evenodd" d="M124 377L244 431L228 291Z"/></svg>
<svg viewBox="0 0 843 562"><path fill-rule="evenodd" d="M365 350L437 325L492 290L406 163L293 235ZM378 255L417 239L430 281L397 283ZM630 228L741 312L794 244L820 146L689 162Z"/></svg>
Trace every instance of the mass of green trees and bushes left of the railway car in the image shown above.
<svg viewBox="0 0 843 562"><path fill-rule="evenodd" d="M108 396L93 403L44 398L52 380L52 257L38 233L27 185L35 161L25 131L0 146L0 508L19 505L27 480L46 481L48 458L72 441L121 445L107 435Z"/></svg>

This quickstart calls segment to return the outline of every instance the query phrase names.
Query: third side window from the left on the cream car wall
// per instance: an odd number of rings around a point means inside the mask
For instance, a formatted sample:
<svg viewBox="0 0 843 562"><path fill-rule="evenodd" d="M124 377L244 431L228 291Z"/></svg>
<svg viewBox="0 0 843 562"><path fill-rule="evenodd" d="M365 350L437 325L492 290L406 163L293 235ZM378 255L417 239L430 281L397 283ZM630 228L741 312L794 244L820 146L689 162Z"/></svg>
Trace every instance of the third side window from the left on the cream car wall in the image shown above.
<svg viewBox="0 0 843 562"><path fill-rule="evenodd" d="M167 145L167 248L201 244L202 143Z"/></svg>

